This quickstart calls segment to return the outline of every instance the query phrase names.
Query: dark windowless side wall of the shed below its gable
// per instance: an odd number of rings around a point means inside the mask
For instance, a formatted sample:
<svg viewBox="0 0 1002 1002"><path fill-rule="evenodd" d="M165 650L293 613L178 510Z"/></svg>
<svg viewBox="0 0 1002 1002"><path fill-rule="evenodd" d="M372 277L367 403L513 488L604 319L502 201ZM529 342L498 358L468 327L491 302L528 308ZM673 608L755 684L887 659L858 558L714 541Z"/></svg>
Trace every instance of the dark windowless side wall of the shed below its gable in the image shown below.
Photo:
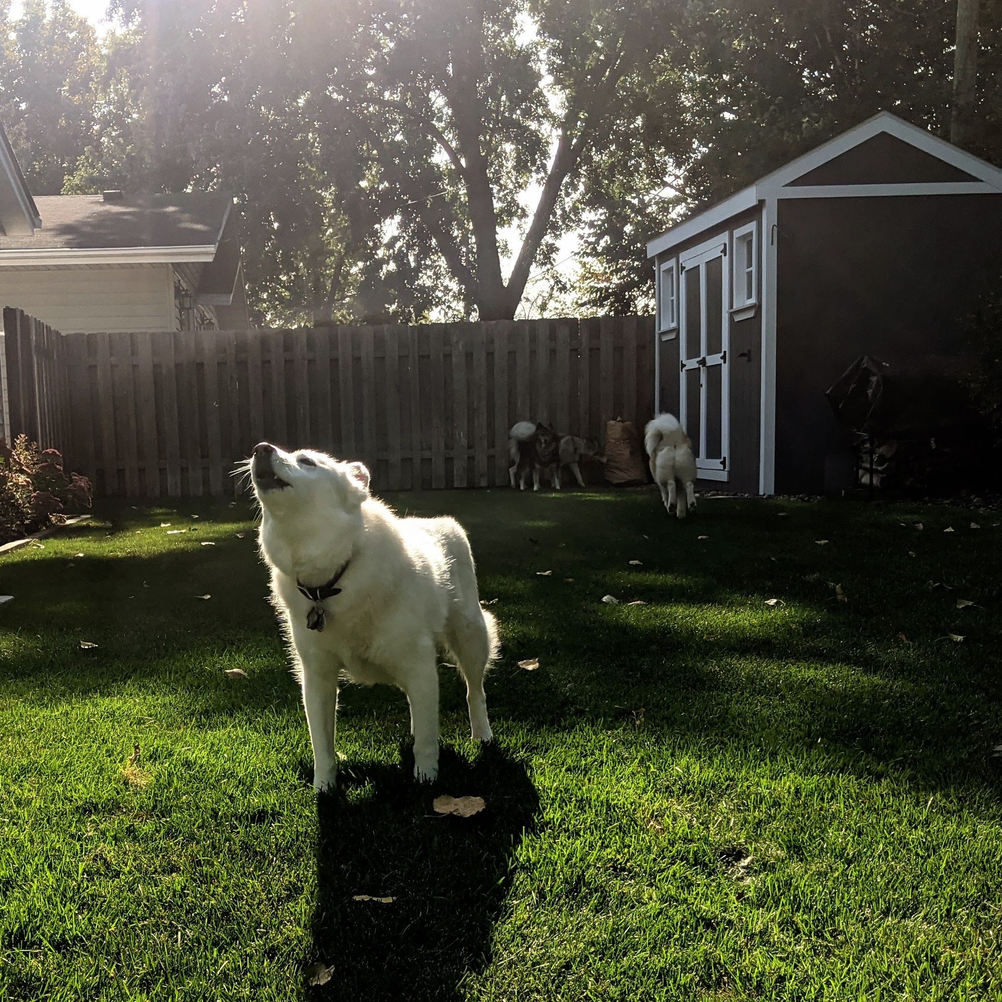
<svg viewBox="0 0 1002 1002"><path fill-rule="evenodd" d="M825 391L861 355L943 371L1002 271L1002 194L781 200L776 489L824 489L848 441Z"/></svg>

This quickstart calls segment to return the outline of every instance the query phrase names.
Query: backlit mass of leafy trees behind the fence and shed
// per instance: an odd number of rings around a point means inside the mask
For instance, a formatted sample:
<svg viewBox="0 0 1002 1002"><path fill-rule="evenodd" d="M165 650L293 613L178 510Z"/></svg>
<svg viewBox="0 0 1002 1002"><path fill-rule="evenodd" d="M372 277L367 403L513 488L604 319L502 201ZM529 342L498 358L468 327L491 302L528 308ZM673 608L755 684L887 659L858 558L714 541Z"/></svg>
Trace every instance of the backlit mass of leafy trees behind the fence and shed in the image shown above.
<svg viewBox="0 0 1002 1002"><path fill-rule="evenodd" d="M1002 5L982 7L973 148L1002 162ZM645 240L682 214L881 108L949 131L941 0L112 12L99 40L65 0L0 10L0 120L38 192L231 190L259 322L507 317L556 294L646 311Z"/></svg>

